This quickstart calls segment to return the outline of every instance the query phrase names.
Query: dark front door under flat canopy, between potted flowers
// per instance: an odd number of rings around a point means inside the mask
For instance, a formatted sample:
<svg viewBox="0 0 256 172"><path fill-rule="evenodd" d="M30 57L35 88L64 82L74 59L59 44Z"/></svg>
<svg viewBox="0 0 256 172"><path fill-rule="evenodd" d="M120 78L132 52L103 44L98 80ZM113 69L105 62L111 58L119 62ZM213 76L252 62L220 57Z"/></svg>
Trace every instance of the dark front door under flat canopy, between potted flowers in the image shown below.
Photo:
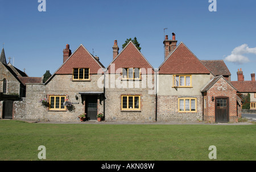
<svg viewBox="0 0 256 172"><path fill-rule="evenodd" d="M90 95L86 97L85 112L89 120L97 120L97 95Z"/></svg>

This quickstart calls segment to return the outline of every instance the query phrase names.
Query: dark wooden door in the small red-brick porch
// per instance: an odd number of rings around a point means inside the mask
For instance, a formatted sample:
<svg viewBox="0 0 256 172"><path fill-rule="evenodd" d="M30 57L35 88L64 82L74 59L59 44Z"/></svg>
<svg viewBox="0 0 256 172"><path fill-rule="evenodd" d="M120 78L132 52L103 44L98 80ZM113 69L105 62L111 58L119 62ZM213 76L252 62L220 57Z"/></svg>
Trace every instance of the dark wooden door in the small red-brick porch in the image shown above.
<svg viewBox="0 0 256 172"><path fill-rule="evenodd" d="M229 121L229 99L216 98L215 121L216 123L227 123Z"/></svg>

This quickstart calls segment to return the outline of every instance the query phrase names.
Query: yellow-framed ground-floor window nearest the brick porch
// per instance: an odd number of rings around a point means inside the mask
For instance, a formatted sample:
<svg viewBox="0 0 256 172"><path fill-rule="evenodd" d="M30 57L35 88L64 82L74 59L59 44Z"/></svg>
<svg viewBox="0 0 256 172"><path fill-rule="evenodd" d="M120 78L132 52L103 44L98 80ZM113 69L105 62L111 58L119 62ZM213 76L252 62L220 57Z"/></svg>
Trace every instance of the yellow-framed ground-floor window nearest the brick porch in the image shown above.
<svg viewBox="0 0 256 172"><path fill-rule="evenodd" d="M179 112L197 112L197 99L196 98L179 98L178 108Z"/></svg>

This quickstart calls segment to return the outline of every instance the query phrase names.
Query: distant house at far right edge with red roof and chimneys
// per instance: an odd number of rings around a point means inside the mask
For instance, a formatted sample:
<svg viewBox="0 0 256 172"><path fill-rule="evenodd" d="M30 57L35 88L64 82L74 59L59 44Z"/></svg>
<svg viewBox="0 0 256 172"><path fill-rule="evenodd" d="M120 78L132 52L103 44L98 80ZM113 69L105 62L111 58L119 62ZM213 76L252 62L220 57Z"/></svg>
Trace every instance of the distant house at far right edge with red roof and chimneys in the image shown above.
<svg viewBox="0 0 256 172"><path fill-rule="evenodd" d="M238 94L250 94L250 110L256 110L256 81L255 73L251 73L251 81L245 81L242 69L238 69L237 81L231 82Z"/></svg>

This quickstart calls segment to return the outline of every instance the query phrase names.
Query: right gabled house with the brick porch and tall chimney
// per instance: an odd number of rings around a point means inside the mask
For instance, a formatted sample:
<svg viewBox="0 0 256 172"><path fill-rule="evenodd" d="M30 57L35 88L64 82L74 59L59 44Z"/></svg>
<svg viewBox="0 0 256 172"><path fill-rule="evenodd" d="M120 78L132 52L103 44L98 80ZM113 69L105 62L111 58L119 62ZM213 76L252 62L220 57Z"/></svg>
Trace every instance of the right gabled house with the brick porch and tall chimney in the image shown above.
<svg viewBox="0 0 256 172"><path fill-rule="evenodd" d="M172 40L166 36L163 43L166 51L158 69L158 120L237 121L237 90L229 82L225 63L199 60L183 42L176 46L174 33ZM220 106L226 110L220 112Z"/></svg>

